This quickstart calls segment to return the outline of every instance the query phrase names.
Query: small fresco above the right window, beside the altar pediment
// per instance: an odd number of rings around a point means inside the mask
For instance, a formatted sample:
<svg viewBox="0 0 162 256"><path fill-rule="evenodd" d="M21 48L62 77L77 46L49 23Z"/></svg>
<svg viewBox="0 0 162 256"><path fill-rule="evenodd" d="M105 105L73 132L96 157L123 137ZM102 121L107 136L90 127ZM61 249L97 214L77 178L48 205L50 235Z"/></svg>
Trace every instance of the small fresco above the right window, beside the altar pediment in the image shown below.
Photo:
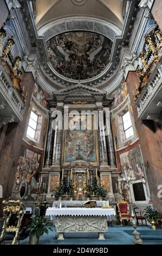
<svg viewBox="0 0 162 256"><path fill-rule="evenodd" d="M126 83L121 83L118 89L116 89L112 94L111 97L114 98L112 102L112 109L118 107L122 101L125 100L127 96L127 85Z"/></svg>

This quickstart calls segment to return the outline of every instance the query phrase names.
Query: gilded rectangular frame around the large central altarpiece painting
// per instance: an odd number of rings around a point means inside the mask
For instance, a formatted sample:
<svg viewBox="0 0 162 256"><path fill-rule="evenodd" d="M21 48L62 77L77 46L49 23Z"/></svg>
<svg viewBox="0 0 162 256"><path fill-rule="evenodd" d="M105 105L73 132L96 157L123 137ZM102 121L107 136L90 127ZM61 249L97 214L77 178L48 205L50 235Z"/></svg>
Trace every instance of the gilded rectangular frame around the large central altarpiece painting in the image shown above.
<svg viewBox="0 0 162 256"><path fill-rule="evenodd" d="M81 115L81 114L80 114ZM76 117L79 117L80 115L76 115ZM68 113L68 117L69 117L69 113ZM86 117L86 115L83 115L83 117ZM94 129L94 119L95 119L95 116L94 114L92 114L92 119L93 119L93 132L94 132L94 149L95 149L95 162L89 162L90 165L92 166L98 166L99 165L99 150L98 150L98 143L97 143L97 139L98 139L98 130L95 130ZM62 166L69 166L70 165L70 162L65 162L65 146L66 146L66 131L67 130L64 130L63 129L63 141L62 141L62 157L61 157L61 165ZM86 162L86 161L85 161Z"/></svg>

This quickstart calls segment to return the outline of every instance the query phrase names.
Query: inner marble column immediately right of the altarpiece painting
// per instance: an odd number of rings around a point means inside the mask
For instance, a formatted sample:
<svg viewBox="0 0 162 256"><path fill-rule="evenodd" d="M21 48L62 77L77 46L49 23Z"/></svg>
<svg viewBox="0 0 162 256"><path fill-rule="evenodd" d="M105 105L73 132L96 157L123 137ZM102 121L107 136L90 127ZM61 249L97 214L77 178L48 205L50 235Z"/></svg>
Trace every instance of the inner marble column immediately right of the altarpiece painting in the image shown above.
<svg viewBox="0 0 162 256"><path fill-rule="evenodd" d="M103 123L103 107L97 107L98 111L98 127L99 127L99 151L100 151L100 164L107 164L107 147L105 137L105 127Z"/></svg>

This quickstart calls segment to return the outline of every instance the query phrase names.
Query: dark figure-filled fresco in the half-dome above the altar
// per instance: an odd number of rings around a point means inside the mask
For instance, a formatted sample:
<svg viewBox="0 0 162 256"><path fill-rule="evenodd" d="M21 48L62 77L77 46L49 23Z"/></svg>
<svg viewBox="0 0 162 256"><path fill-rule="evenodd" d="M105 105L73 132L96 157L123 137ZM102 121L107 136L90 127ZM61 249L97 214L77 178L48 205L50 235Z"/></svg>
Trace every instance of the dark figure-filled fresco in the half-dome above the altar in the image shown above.
<svg viewBox="0 0 162 256"><path fill-rule="evenodd" d="M51 65L60 75L86 80L99 75L110 61L113 42L92 32L69 32L47 42Z"/></svg>

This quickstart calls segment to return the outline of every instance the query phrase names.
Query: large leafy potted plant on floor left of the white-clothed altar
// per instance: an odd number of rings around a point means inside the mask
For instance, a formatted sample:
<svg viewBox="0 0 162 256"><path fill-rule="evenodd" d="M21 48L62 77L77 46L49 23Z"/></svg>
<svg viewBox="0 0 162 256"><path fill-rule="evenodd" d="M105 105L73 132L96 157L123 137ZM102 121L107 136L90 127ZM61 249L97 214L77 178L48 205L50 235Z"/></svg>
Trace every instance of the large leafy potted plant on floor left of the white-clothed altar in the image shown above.
<svg viewBox="0 0 162 256"><path fill-rule="evenodd" d="M48 229L52 231L51 226L50 223L47 223L46 218L32 215L28 227L25 228L25 231L29 232L29 245L37 245L40 236L44 233L48 234Z"/></svg>

